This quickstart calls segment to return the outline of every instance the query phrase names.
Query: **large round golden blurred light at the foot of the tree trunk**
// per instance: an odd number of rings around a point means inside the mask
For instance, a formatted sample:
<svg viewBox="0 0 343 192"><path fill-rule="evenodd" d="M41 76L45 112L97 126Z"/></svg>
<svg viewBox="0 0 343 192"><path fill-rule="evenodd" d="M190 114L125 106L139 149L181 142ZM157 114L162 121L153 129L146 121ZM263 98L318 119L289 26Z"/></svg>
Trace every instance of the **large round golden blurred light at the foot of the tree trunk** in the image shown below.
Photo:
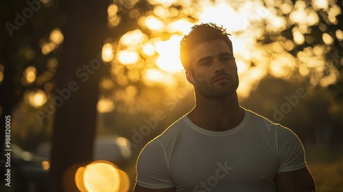
<svg viewBox="0 0 343 192"><path fill-rule="evenodd" d="M82 192L125 192L130 185L128 175L105 160L80 167L75 173L75 183Z"/></svg>

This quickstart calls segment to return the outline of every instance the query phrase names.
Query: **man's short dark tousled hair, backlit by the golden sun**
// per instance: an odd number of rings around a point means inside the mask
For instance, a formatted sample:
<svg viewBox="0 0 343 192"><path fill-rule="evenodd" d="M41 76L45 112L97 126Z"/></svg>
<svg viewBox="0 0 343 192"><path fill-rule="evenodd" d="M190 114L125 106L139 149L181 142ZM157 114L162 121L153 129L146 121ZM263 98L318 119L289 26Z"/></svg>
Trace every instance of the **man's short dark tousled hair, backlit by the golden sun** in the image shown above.
<svg viewBox="0 0 343 192"><path fill-rule="evenodd" d="M185 70L193 71L191 67L191 58L189 53L193 47L211 40L224 40L228 45L231 53L233 53L233 44L228 38L230 34L226 33L226 28L223 26L217 26L215 23L201 23L200 25L194 25L191 27L191 32L183 36L180 41L180 60Z"/></svg>

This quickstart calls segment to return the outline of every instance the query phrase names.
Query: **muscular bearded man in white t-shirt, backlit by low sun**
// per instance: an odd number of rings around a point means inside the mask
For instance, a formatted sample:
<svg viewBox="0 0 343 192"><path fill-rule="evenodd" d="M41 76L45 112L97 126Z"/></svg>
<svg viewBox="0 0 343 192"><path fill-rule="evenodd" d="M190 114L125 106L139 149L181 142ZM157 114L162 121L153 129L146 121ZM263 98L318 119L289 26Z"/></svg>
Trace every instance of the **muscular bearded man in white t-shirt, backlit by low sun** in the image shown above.
<svg viewBox="0 0 343 192"><path fill-rule="evenodd" d="M134 191L315 191L298 137L239 106L226 29L194 25L180 59L196 106L144 147Z"/></svg>

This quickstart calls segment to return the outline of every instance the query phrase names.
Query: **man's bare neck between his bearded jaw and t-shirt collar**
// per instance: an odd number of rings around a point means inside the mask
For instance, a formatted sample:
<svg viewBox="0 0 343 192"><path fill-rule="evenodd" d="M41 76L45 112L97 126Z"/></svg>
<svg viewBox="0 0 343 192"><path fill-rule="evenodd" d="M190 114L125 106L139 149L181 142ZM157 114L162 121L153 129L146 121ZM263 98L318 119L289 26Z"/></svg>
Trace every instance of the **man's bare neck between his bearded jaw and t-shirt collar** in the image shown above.
<svg viewBox="0 0 343 192"><path fill-rule="evenodd" d="M206 130L224 131L243 121L245 110L239 106L237 93L224 98L196 97L196 106L187 115L196 125Z"/></svg>

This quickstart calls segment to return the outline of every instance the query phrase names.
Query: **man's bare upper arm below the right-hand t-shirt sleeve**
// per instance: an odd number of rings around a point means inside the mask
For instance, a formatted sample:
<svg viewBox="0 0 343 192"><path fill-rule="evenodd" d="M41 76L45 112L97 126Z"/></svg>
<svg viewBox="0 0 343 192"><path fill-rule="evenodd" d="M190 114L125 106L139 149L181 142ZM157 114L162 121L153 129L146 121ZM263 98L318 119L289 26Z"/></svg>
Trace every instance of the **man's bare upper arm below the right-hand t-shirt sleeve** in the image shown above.
<svg viewBox="0 0 343 192"><path fill-rule="evenodd" d="M279 173L275 176L278 192L315 192L314 178L309 169L304 167L296 171Z"/></svg>

